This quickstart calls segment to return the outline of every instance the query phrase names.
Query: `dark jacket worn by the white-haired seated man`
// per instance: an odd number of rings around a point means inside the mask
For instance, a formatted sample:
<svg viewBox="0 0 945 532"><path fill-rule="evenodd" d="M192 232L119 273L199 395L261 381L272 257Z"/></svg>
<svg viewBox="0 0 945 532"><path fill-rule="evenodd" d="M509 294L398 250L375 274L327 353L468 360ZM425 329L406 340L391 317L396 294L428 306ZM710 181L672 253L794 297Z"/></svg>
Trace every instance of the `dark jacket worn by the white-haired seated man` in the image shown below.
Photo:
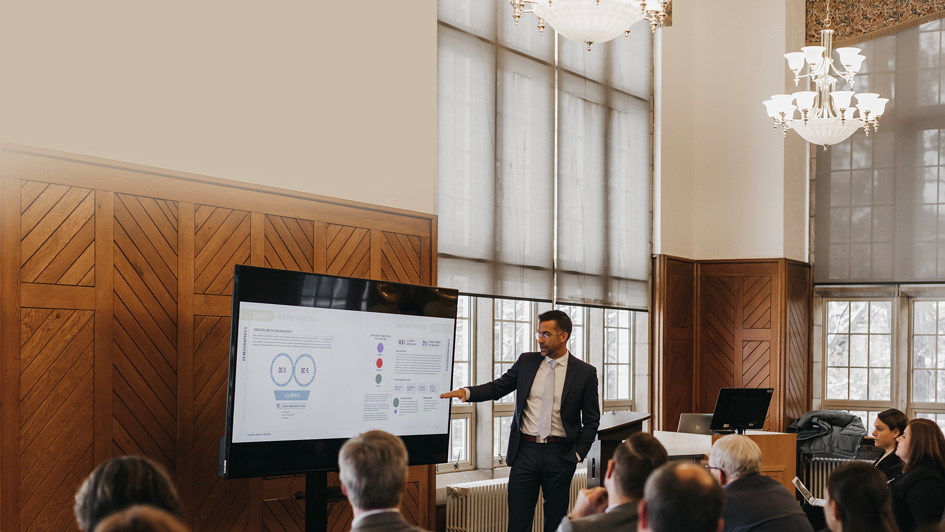
<svg viewBox="0 0 945 532"><path fill-rule="evenodd" d="M765 475L740 478L725 486L723 532L814 532L794 493Z"/></svg>

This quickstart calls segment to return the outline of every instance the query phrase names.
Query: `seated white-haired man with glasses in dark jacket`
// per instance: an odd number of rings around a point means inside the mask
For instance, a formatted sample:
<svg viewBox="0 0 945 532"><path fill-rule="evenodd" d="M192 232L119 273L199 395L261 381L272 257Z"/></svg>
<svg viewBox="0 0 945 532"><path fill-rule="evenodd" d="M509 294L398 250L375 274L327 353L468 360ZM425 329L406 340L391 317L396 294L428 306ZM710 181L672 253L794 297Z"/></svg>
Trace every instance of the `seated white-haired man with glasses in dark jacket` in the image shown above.
<svg viewBox="0 0 945 532"><path fill-rule="evenodd" d="M715 440L709 470L729 497L723 532L814 532L794 493L761 474L762 450L748 436Z"/></svg>

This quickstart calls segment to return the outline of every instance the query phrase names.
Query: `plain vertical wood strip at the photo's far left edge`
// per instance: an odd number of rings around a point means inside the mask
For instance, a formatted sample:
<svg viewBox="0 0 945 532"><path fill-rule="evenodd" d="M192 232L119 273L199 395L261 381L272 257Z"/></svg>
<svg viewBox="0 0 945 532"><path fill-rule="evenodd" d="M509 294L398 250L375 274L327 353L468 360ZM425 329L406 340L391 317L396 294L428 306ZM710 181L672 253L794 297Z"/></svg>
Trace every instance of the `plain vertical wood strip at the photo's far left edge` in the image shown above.
<svg viewBox="0 0 945 532"><path fill-rule="evenodd" d="M6 162L6 161L4 161ZM20 531L20 193L0 177L0 529Z"/></svg>

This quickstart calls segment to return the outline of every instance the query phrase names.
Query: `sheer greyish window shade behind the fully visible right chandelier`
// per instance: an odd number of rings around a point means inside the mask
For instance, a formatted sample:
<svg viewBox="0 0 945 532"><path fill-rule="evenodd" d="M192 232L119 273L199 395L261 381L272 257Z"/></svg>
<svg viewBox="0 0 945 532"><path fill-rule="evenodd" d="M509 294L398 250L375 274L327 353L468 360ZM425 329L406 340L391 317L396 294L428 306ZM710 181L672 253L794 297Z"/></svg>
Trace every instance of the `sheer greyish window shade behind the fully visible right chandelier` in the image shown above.
<svg viewBox="0 0 945 532"><path fill-rule="evenodd" d="M857 44L854 89L889 102L879 133L818 152L815 282L945 281L941 23Z"/></svg>

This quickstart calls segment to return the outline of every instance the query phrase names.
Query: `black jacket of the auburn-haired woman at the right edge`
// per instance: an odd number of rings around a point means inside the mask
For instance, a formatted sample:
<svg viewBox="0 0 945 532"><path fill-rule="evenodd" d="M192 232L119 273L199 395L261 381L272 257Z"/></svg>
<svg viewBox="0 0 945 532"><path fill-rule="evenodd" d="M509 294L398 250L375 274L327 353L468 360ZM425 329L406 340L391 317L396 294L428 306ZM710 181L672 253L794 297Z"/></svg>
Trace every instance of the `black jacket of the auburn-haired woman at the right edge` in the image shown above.
<svg viewBox="0 0 945 532"><path fill-rule="evenodd" d="M892 513L900 532L911 532L919 524L938 523L945 510L945 482L928 466L902 473L889 481Z"/></svg>

